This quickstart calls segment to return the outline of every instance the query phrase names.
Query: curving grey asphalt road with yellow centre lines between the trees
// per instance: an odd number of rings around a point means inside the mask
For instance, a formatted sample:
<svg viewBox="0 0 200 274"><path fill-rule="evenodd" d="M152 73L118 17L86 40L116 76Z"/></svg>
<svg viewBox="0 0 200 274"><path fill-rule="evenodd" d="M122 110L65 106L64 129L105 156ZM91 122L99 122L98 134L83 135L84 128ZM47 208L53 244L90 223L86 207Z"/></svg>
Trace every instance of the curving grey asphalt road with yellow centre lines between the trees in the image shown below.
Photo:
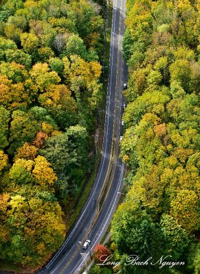
<svg viewBox="0 0 200 274"><path fill-rule="evenodd" d="M110 72L107 90L107 106L104 123L102 158L91 194L85 203L76 224L69 232L63 246L38 271L40 274L78 274L87 264L94 247L104 236L111 217L118 206L124 164L118 158L121 117L123 112L122 88L127 81L127 69L122 60L124 36L125 0L113 0L111 27ZM91 240L87 251L82 249L85 240Z"/></svg>

